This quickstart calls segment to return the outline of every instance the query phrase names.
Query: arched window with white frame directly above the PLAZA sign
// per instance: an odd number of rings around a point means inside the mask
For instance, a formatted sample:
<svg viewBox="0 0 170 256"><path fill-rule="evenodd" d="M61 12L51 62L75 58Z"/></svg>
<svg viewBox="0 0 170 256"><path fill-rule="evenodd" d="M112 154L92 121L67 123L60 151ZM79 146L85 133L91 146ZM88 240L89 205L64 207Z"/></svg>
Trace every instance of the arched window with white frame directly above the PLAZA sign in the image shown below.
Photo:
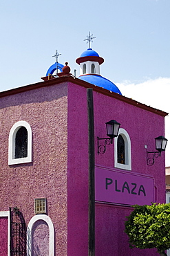
<svg viewBox="0 0 170 256"><path fill-rule="evenodd" d="M114 138L114 167L131 170L131 140L127 131L119 129Z"/></svg>

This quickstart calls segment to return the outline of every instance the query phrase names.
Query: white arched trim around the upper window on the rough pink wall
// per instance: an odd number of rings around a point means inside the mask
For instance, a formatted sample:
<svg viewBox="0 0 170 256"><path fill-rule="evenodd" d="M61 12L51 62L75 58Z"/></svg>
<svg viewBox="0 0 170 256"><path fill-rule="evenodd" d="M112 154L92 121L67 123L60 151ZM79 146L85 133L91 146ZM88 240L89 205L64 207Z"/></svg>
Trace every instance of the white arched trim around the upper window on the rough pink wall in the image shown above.
<svg viewBox="0 0 170 256"><path fill-rule="evenodd" d="M19 128L25 127L28 131L28 156L23 158L14 158L15 154L15 136ZM19 163L32 162L32 130L28 122L16 122L10 129L9 143L8 143L8 165L17 165Z"/></svg>

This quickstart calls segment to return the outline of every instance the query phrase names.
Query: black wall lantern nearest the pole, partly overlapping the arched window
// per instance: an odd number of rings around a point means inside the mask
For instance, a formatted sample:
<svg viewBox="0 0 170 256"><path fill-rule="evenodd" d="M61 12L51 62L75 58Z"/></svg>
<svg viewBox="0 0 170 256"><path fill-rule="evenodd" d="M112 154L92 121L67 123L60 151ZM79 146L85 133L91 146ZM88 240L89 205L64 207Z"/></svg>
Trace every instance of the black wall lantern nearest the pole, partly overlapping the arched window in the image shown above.
<svg viewBox="0 0 170 256"><path fill-rule="evenodd" d="M104 154L106 151L106 145L110 145L113 143L113 138L118 136L118 131L120 127L120 123L116 122L116 120L110 120L106 122L106 130L107 136L109 138L98 138L98 154ZM105 140L104 145L99 143L99 140Z"/></svg>

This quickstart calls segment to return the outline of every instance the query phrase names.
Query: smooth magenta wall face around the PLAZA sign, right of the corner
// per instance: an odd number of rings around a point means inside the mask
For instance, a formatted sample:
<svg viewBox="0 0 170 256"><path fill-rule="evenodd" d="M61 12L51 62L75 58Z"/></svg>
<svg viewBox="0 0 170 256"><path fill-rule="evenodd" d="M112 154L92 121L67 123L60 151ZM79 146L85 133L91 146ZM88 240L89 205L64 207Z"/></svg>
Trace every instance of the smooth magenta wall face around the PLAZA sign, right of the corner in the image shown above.
<svg viewBox="0 0 170 256"><path fill-rule="evenodd" d="M94 91L96 165L114 167L114 144L97 154L97 136L106 137L105 122L120 122L131 138L131 163L135 172L153 176L156 201L165 201L164 153L153 166L146 162L148 150L155 150L154 138L164 135L164 118L126 102ZM86 89L69 84L68 89L68 255L88 252L88 146ZM116 169L116 168L115 168ZM116 169L118 170L118 169ZM121 170L120 170L121 171ZM96 256L156 255L156 250L129 249L125 217L130 207L96 203Z"/></svg>

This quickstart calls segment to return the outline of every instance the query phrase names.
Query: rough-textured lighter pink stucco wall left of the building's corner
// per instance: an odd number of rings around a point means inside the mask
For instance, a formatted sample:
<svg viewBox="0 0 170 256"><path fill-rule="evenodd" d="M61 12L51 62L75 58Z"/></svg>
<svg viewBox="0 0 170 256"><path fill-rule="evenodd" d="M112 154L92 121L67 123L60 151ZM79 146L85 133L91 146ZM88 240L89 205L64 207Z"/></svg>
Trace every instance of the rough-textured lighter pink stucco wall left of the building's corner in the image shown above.
<svg viewBox="0 0 170 256"><path fill-rule="evenodd" d="M67 255L67 84L1 98L0 116L0 210L17 206L28 225L34 199L45 197L56 255ZM32 129L32 163L8 166L8 136L19 120Z"/></svg>

